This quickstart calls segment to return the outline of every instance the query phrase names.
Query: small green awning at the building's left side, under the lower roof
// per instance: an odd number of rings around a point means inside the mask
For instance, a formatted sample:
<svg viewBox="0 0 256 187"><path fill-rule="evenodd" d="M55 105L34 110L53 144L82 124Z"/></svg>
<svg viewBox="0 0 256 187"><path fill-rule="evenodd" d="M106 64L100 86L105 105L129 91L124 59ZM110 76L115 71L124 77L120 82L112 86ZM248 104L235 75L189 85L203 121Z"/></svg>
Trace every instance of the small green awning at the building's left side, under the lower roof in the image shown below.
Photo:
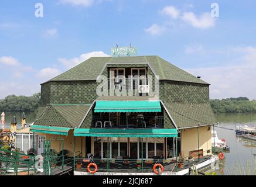
<svg viewBox="0 0 256 187"><path fill-rule="evenodd" d="M67 136L69 134L70 128L67 127L51 127L51 126L43 126L43 125L32 125L30 127L30 131L36 133L46 133L46 134L59 134Z"/></svg>

